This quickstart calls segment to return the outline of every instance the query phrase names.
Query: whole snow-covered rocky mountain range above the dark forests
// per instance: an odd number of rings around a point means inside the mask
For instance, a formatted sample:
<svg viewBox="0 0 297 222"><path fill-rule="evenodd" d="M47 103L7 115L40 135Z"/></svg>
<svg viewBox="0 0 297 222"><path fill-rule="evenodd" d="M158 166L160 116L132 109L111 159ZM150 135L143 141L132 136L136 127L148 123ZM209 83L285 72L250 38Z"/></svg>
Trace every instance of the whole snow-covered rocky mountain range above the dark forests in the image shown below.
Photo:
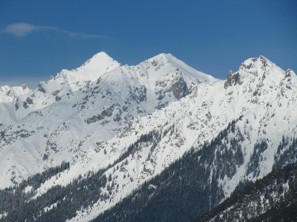
<svg viewBox="0 0 297 222"><path fill-rule="evenodd" d="M69 221L89 221L121 202L185 152L198 152L237 118L240 121L233 123L232 132L221 139L231 155L229 141L239 138L242 160L234 166L228 163L232 170L225 170L226 175L217 181L222 198L230 196L241 180L256 180L269 173L279 141L296 134L296 74L263 56L247 59L235 73L230 71L227 80L219 81L170 54L159 54L136 66L120 66L106 54L98 55L109 58L109 62L94 62L104 63L105 73L102 68L94 74L96 65L83 72L93 64L90 59L85 66L62 71L29 94L18 96L15 102L0 103L1 187L69 161L68 170L32 190L33 200L38 200L50 187L66 186L79 175L88 179L89 172L104 169L108 182L100 192L108 195L77 209ZM75 74L80 70L80 77L87 74L79 79ZM40 87L45 96L39 94ZM261 141L266 148L255 151ZM212 169L224 153L214 152L217 157L209 159Z"/></svg>

